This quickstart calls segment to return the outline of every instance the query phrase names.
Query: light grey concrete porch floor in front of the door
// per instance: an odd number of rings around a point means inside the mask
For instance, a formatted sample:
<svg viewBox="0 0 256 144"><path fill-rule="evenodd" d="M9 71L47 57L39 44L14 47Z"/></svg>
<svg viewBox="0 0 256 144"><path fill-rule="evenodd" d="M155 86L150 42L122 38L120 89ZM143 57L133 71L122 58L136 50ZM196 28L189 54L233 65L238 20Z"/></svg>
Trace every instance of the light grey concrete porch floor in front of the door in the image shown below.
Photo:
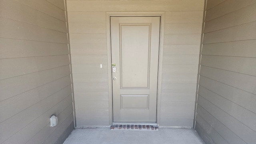
<svg viewBox="0 0 256 144"><path fill-rule="evenodd" d="M193 128L159 128L159 131L78 128L63 144L205 144Z"/></svg>

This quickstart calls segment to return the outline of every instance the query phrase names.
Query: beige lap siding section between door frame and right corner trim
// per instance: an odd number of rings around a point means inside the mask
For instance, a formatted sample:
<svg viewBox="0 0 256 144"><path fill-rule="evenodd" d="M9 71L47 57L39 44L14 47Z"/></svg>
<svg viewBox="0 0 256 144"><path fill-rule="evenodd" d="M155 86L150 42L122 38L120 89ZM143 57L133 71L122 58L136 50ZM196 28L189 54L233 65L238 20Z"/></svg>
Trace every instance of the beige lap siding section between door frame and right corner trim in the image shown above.
<svg viewBox="0 0 256 144"><path fill-rule="evenodd" d="M160 125L192 127L203 12L165 16Z"/></svg>

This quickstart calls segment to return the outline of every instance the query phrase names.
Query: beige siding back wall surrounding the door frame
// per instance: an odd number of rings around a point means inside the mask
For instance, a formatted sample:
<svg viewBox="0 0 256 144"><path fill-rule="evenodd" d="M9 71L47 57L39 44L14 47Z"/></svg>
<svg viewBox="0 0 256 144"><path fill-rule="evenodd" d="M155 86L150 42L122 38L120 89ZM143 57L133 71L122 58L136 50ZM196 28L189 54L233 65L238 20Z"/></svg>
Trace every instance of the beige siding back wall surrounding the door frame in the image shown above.
<svg viewBox="0 0 256 144"><path fill-rule="evenodd" d="M77 126L109 125L106 11L166 12L159 124L193 126L204 0L67 0L67 6Z"/></svg>

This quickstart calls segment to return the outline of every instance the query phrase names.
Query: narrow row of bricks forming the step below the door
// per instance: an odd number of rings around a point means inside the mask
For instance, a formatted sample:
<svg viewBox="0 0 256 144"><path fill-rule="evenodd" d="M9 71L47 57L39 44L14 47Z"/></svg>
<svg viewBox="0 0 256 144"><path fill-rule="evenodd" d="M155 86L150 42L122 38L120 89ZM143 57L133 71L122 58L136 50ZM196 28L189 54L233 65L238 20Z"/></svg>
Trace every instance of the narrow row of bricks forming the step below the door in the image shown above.
<svg viewBox="0 0 256 144"><path fill-rule="evenodd" d="M142 124L114 124L110 126L110 130L154 130L158 131L156 125L142 125Z"/></svg>

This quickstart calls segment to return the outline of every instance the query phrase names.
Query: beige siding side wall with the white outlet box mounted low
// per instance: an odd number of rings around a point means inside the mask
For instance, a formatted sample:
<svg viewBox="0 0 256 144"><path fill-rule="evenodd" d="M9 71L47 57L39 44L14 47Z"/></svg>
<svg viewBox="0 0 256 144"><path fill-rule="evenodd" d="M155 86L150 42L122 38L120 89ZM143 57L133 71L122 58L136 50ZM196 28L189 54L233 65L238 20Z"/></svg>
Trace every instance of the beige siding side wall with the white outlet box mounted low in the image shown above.
<svg viewBox="0 0 256 144"><path fill-rule="evenodd" d="M0 0L0 144L61 143L71 95L64 1Z"/></svg>

